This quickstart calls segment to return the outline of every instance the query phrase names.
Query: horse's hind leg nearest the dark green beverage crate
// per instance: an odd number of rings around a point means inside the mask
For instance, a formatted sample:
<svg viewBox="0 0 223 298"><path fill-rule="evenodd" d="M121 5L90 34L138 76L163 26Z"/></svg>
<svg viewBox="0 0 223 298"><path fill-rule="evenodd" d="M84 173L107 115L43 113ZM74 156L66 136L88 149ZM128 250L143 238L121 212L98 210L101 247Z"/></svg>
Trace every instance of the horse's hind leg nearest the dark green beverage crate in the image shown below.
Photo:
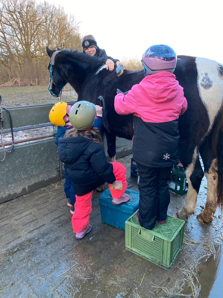
<svg viewBox="0 0 223 298"><path fill-rule="evenodd" d="M188 182L187 197L183 209L177 211L177 213L174 215L175 217L185 221L196 211L197 196L201 180L204 176L204 172L199 161L197 147L195 147L193 155L188 155L186 149L186 146L183 151L181 149L180 160L182 164L186 166L186 178ZM188 163L188 160L190 160L190 164Z"/></svg>

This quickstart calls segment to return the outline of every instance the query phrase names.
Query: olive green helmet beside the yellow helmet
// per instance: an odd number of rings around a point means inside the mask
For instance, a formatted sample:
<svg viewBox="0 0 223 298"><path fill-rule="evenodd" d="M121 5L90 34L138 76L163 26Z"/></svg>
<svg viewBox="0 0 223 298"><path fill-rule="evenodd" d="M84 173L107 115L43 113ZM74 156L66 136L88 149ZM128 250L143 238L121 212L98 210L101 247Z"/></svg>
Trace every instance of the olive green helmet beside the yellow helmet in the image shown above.
<svg viewBox="0 0 223 298"><path fill-rule="evenodd" d="M70 109L71 125L78 130L90 129L96 117L96 106L85 100L76 102Z"/></svg>

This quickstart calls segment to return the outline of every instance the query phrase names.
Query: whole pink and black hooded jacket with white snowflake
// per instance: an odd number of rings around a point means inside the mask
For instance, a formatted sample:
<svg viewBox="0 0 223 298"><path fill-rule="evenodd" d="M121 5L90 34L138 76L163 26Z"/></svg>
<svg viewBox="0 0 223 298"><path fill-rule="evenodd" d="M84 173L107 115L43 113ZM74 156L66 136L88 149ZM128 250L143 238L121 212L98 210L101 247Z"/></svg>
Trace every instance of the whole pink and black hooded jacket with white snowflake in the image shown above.
<svg viewBox="0 0 223 298"><path fill-rule="evenodd" d="M133 158L150 167L170 167L177 162L178 118L187 109L183 88L174 74L147 75L125 95L115 97L120 115L133 113Z"/></svg>

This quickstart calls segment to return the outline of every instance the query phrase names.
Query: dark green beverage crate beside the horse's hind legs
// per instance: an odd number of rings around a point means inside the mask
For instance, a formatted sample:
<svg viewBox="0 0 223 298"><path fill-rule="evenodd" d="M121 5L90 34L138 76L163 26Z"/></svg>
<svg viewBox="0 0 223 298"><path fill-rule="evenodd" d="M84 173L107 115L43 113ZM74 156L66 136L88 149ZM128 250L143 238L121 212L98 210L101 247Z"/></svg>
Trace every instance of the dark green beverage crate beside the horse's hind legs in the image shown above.
<svg viewBox="0 0 223 298"><path fill-rule="evenodd" d="M180 196L187 193L188 183L186 181L185 169L174 165L170 174L169 190Z"/></svg>

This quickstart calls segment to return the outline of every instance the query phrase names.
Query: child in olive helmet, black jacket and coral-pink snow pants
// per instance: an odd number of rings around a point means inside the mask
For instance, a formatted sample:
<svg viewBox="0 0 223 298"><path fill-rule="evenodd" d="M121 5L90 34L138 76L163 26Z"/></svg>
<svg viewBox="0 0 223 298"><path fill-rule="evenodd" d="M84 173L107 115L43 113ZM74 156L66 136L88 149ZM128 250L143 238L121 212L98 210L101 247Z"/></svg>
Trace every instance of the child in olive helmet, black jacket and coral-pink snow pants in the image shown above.
<svg viewBox="0 0 223 298"><path fill-rule="evenodd" d="M71 108L69 119L74 126L59 139L59 159L64 162L76 192L75 210L72 216L76 239L82 239L91 230L90 212L93 190L109 183L112 203L129 201L126 168L118 162L109 163L103 149L100 132L93 126L96 107L87 101L79 101Z"/></svg>

